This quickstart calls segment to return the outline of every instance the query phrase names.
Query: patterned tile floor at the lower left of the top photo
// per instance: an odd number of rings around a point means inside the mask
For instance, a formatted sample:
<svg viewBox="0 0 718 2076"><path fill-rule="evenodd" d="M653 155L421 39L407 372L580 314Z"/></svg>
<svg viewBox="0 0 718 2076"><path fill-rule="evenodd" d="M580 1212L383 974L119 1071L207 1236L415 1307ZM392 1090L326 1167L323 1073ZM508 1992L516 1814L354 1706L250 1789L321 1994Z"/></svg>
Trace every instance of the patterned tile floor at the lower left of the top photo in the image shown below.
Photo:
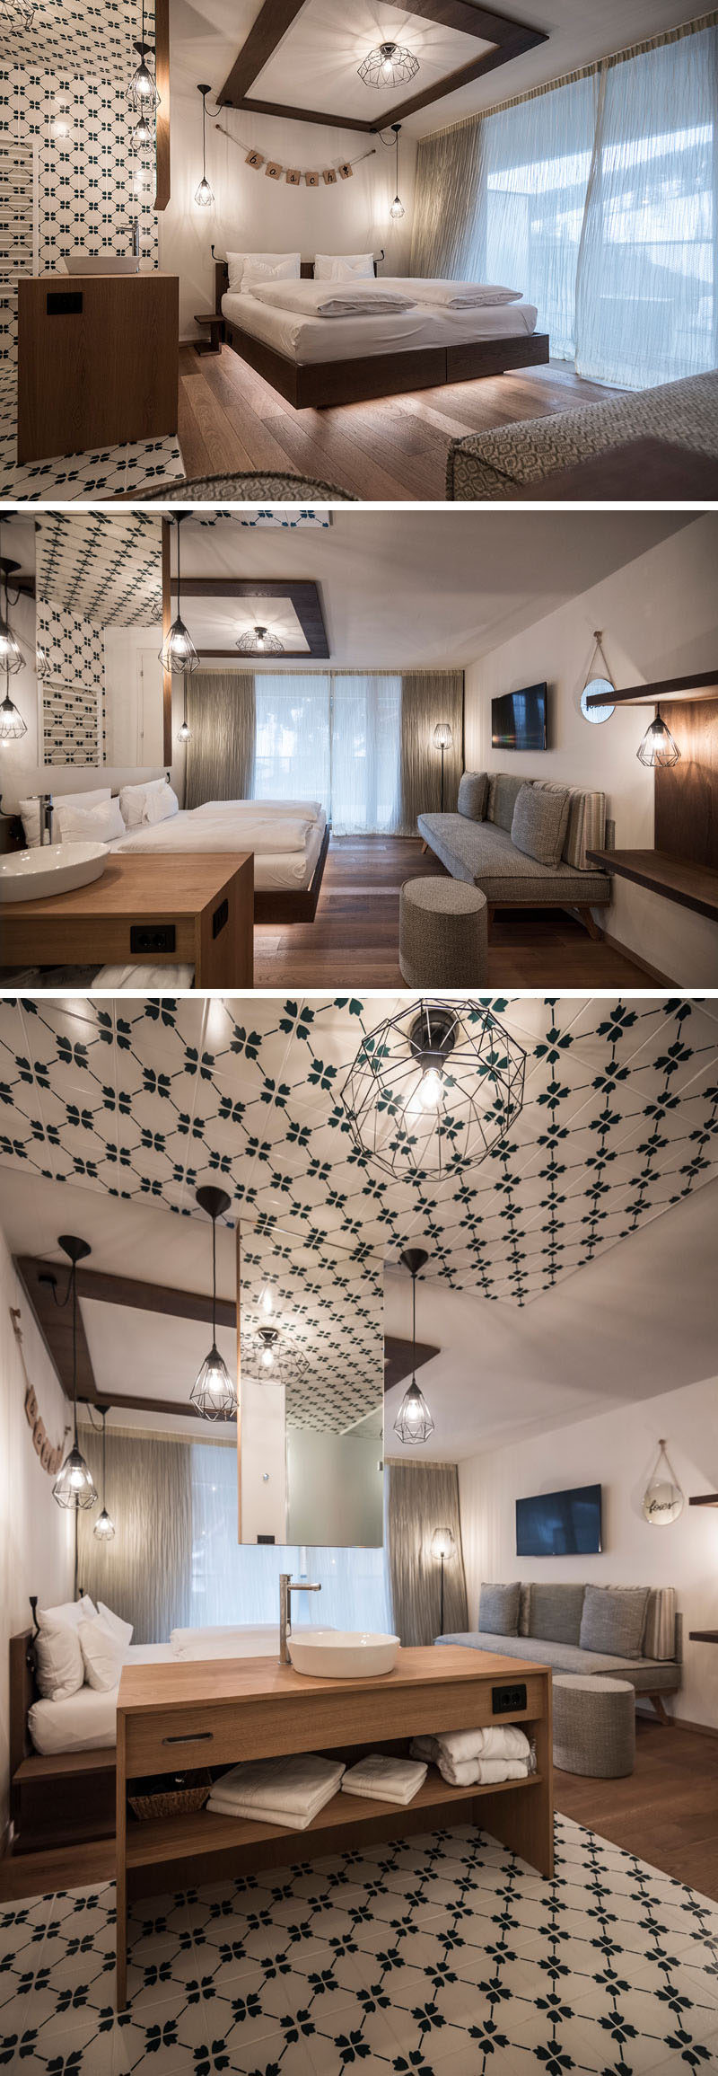
<svg viewBox="0 0 718 2076"><path fill-rule="evenodd" d="M17 376L0 376L0 496L4 498L110 498L141 496L160 482L185 477L178 440L135 440L87 455L17 463Z"/></svg>

